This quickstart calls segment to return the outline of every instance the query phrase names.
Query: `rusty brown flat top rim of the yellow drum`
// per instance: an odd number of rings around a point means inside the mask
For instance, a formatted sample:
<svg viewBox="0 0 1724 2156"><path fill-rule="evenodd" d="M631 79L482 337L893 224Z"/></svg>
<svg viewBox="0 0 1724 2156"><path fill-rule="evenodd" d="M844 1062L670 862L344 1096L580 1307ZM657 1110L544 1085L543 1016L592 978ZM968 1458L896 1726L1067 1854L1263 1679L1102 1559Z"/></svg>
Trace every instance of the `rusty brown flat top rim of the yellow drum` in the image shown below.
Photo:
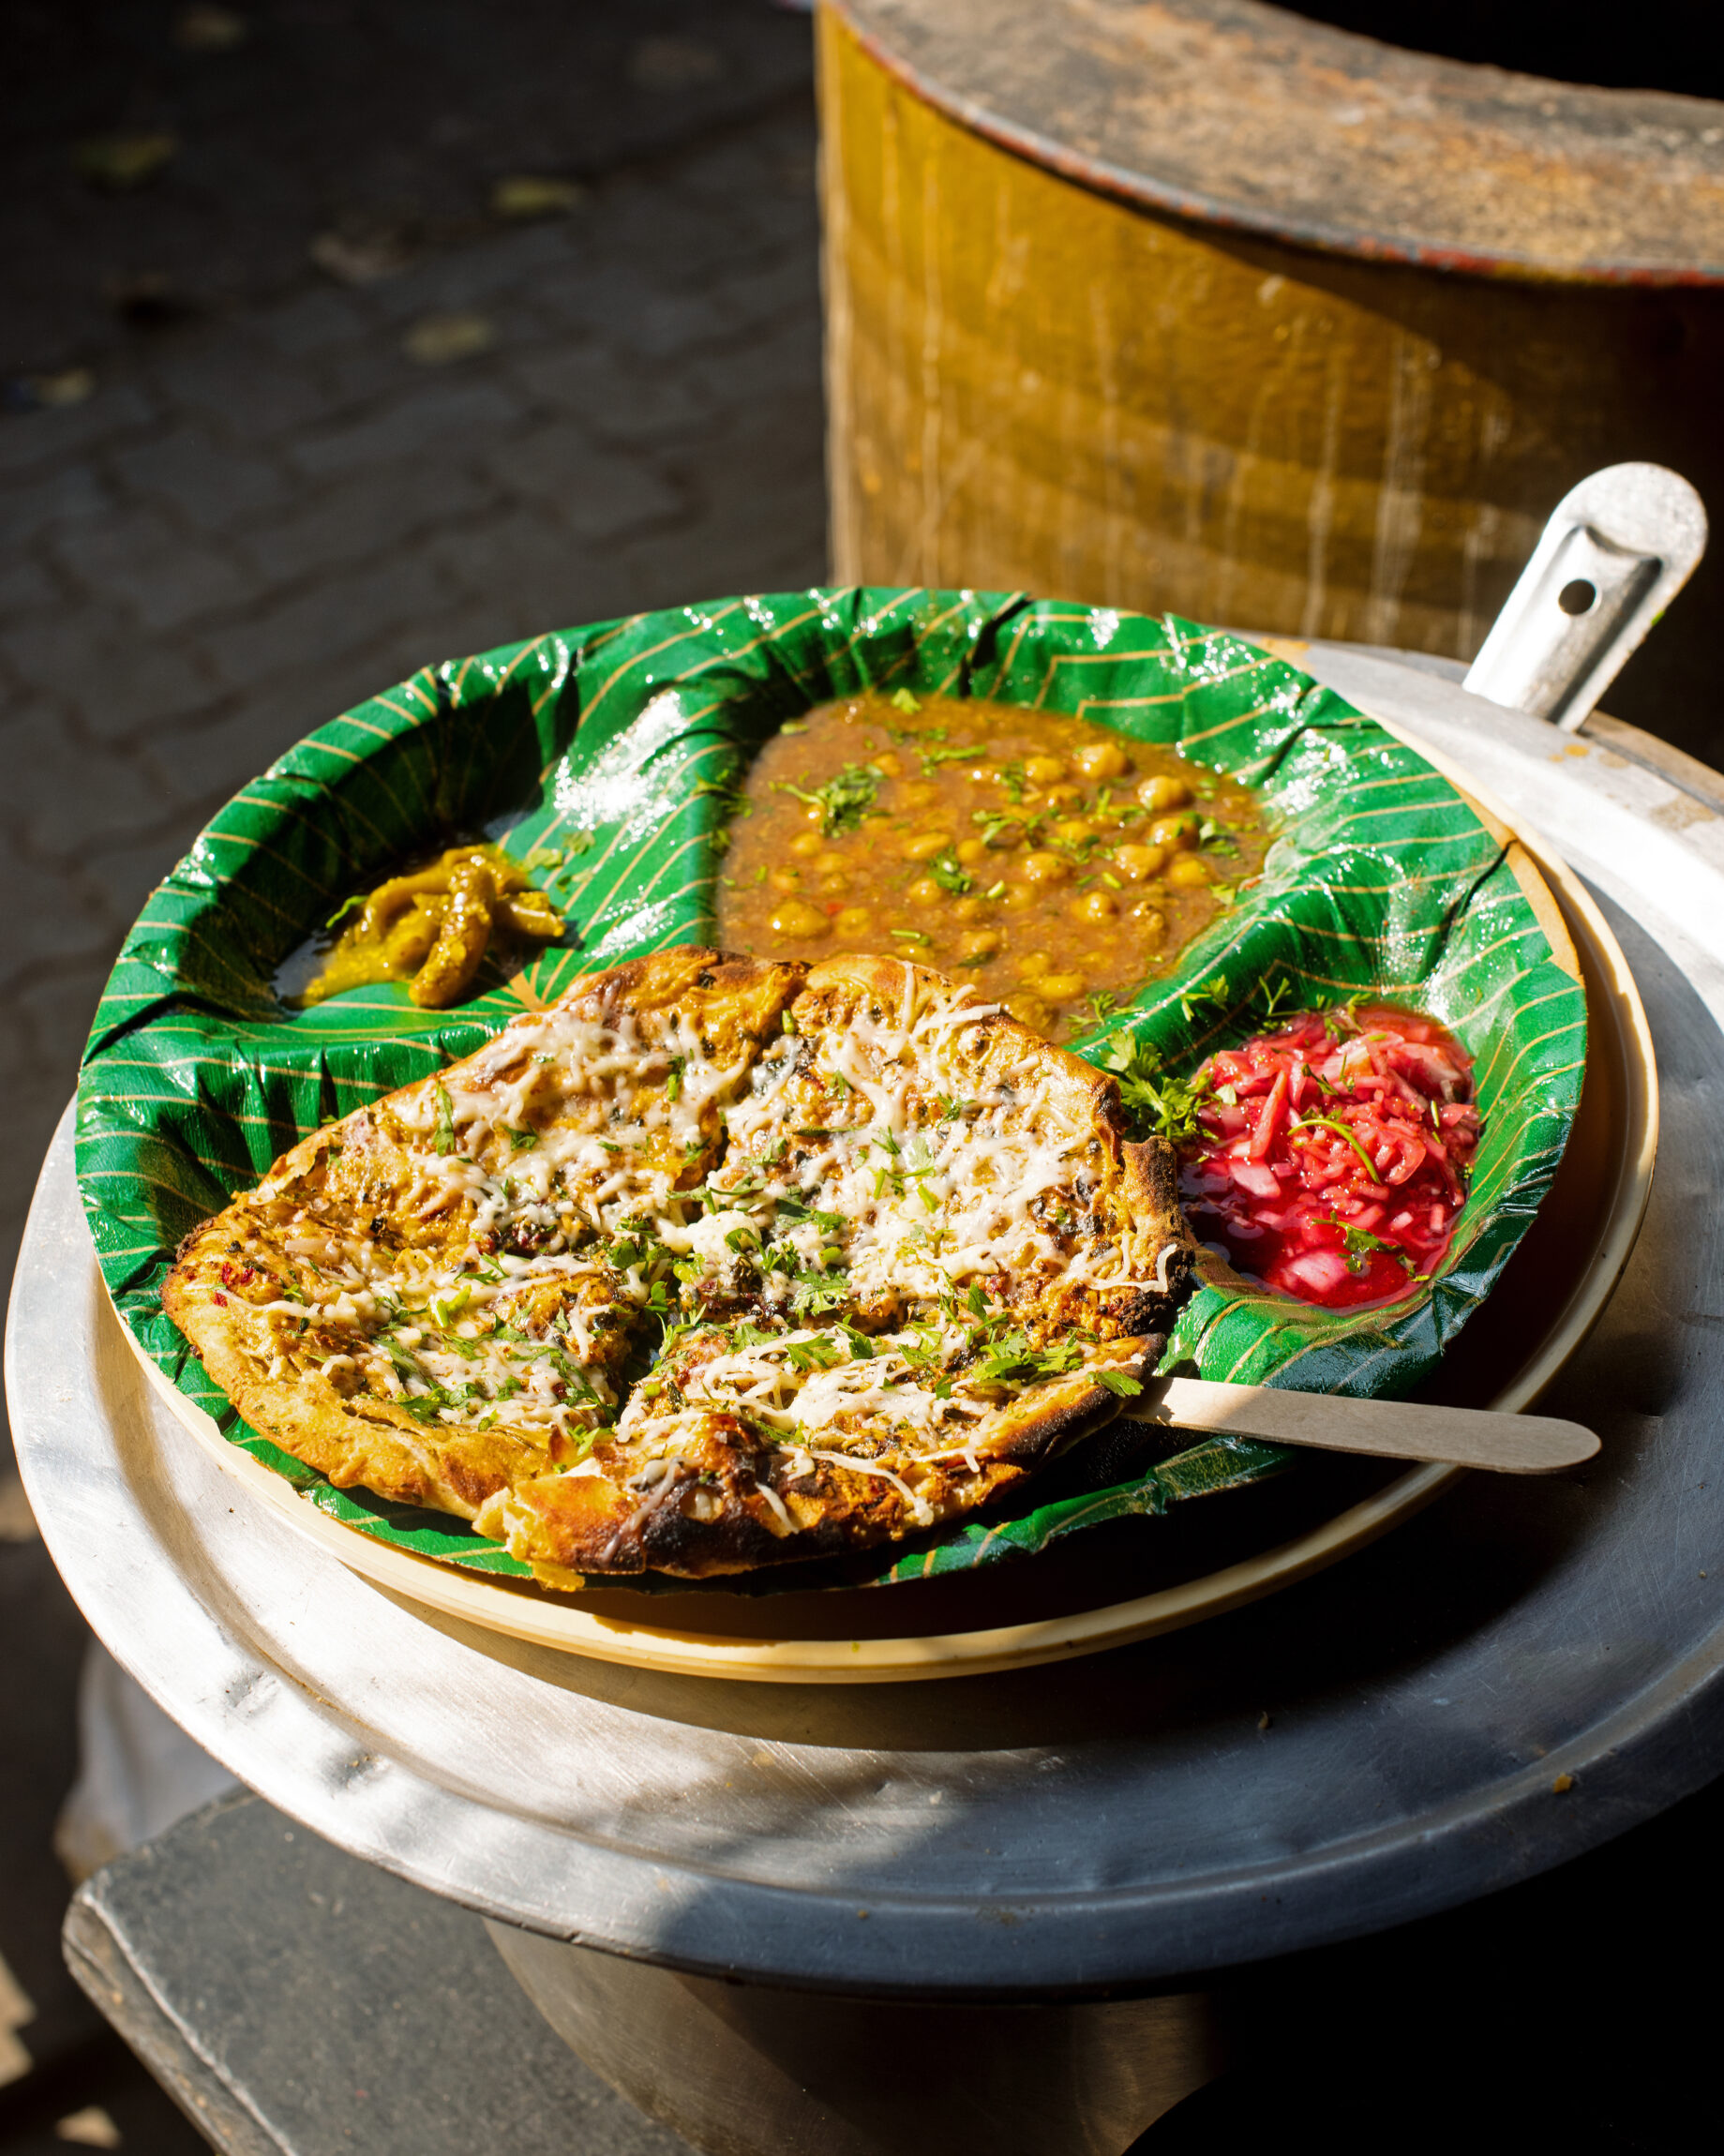
<svg viewBox="0 0 1724 2156"><path fill-rule="evenodd" d="M912 91L1090 188L1338 254L1724 282L1724 103L1379 45L1259 0L825 0Z"/></svg>

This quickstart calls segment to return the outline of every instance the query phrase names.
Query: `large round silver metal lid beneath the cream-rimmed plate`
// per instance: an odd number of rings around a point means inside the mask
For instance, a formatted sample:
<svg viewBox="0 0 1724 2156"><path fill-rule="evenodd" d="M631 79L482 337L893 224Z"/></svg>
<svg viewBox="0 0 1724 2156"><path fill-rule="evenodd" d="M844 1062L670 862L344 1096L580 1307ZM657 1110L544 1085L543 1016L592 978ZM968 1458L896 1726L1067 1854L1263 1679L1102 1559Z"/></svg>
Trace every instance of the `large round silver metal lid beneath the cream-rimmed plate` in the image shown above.
<svg viewBox="0 0 1724 2156"><path fill-rule="evenodd" d="M1537 821L1633 964L1659 1175L1547 1395L1601 1432L1597 1470L1470 1477L1269 1604L1058 1671L860 1690L616 1669L425 1617L250 1505L149 1401L60 1153L13 1298L13 1414L119 1658L276 1805L440 1893L853 1992L1166 1984L1506 1884L1718 1772L1724 824L1442 679L1304 664Z"/></svg>

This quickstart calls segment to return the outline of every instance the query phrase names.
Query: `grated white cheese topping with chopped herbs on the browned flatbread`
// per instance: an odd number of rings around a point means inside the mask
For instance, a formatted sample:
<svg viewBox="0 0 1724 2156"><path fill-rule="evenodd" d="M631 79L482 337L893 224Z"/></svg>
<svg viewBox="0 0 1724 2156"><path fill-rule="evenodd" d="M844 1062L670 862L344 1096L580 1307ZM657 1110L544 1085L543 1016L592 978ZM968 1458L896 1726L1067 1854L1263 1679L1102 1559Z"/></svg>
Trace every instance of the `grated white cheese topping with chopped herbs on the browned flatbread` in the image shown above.
<svg viewBox="0 0 1724 2156"><path fill-rule="evenodd" d="M315 1369L427 1432L496 1429L552 1466L582 1462L612 1423L618 1445L668 1455L726 1412L800 1457L864 1464L851 1447L890 1442L974 1470L978 1427L1021 1384L963 1373L976 1335L955 1298L974 1283L987 1300L1002 1276L1146 1285L1121 1274L1090 1210L1099 1141L1071 1128L1045 1059L1000 1065L998 1041L981 1054L991 1015L905 968L896 1009L787 1033L761 1056L746 1044L731 1063L681 1013L657 1013L651 1037L627 1015L522 1018L384 1104L407 1141L390 1218L444 1222L442 1246L291 1216L297 1296L254 1307L272 1376ZM808 1123L810 1102L834 1121ZM720 1145L707 1184L683 1188ZM289 1188L265 1179L259 1199ZM696 1315L726 1291L761 1311L892 1298L944 1317L871 1354L860 1335L776 1332L709 1356L675 1412L657 1380L625 1406L649 1313Z"/></svg>

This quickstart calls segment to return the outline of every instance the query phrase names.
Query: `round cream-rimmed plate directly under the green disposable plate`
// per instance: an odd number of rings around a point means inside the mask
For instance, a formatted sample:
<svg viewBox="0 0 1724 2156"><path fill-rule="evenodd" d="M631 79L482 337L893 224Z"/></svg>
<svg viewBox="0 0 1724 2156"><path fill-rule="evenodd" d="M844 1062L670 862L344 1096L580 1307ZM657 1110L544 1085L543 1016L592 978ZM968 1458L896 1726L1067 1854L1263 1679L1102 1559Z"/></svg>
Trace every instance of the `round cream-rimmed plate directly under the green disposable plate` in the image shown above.
<svg viewBox="0 0 1724 2156"><path fill-rule="evenodd" d="M1442 770L1487 821L1504 834L1515 830L1508 811L1461 768L1418 735L1401 727L1390 731ZM1560 951L1569 940L1575 951L1590 1024L1586 1091L1562 1169L1537 1222L1496 1294L1448 1356L1440 1384L1429 1391L1433 1397L1521 1410L1539 1399L1586 1339L1633 1250L1651 1194L1659 1104L1640 992L1599 908L1560 856L1524 828L1517 830L1511 858L1552 944ZM1256 1494L1267 1501L1259 1505L1254 1520L1263 1546L1220 1563L1205 1561L1207 1542L1213 1539L1205 1535L1205 1507L1181 1507L1179 1518L1168 1514L1157 1520L1153 1533L1174 1539L1190 1514L1192 1533L1181 1539L1196 1544L1194 1552L1183 1552L1187 1563L1196 1561L1196 1570L1136 1593L1129 1587L1142 1587L1142 1572L1168 1554L1146 1548L1146 1531L1131 1537L1129 1546L1116 1542L1110 1552L1084 1548L1075 1557L1075 1570L1054 1550L1021 1565L929 1587L901 1587L890 1595L875 1589L774 1595L595 1589L571 1595L457 1572L330 1520L295 1496L282 1477L231 1445L215 1421L151 1363L129 1328L119 1330L155 1395L222 1470L351 1572L407 1602L487 1632L681 1675L765 1684L892 1684L1028 1669L1121 1647L1291 1587L1412 1518L1465 1473L1450 1466L1399 1473L1384 1473L1381 1464L1336 1466L1327 1490L1310 1492L1319 1507L1325 1496L1338 1494L1336 1509L1315 1520L1293 1520L1293 1531L1282 1535L1276 1533L1278 1522L1289 1524L1276 1498L1282 1485L1269 1483ZM1250 1492L1233 1496L1228 1531L1243 1526L1246 1496ZM1026 1604L1037 1600L1045 1606L1026 1617ZM929 1619L927 1630L905 1632L905 1617L916 1611ZM892 1632L884 1630L888 1619Z"/></svg>

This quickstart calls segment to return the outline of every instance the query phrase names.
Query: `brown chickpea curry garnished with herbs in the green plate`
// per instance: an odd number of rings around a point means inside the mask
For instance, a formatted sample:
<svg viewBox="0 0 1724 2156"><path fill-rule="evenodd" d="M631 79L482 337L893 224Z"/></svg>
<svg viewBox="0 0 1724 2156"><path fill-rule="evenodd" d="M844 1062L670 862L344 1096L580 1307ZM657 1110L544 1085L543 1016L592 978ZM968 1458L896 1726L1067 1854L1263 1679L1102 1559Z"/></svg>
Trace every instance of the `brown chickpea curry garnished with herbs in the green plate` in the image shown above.
<svg viewBox="0 0 1724 2156"><path fill-rule="evenodd" d="M1021 705L851 696L754 759L718 940L896 953L1069 1039L1166 970L1271 837L1248 787L1172 748Z"/></svg>

